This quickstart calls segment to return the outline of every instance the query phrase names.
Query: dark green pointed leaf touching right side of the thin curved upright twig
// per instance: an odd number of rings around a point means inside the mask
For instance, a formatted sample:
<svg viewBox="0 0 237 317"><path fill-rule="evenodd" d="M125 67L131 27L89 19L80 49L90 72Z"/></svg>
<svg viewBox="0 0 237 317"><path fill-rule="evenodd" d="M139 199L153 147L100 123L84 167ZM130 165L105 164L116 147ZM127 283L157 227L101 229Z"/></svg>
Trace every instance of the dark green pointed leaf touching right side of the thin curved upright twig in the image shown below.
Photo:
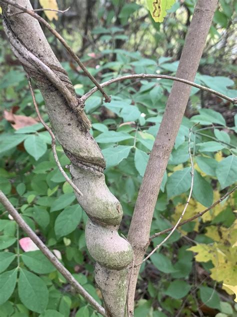
<svg viewBox="0 0 237 317"><path fill-rule="evenodd" d="M192 196L205 207L211 206L213 202L211 185L196 170L194 170Z"/></svg>

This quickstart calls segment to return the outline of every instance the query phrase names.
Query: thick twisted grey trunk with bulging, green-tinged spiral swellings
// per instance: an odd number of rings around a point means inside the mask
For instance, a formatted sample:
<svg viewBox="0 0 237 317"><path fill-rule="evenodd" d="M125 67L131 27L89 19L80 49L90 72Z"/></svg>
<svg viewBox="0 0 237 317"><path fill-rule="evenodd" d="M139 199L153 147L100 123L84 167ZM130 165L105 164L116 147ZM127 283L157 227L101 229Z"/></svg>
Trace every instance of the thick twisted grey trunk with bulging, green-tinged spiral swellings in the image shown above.
<svg viewBox="0 0 237 317"><path fill-rule="evenodd" d="M32 9L29 0L17 3ZM130 244L117 233L122 218L118 200L109 192L103 175L101 151L68 104L64 91L74 96L74 88L65 70L53 54L39 23L27 14L1 3L3 27L14 55L40 89L52 129L71 161L70 174L83 196L78 203L89 217L86 245L95 260L95 280L101 290L108 316L126 314L127 271L133 253ZM45 72L44 69L48 69ZM50 71L61 82L55 87ZM63 87L63 89L61 89ZM66 90L67 89L67 90Z"/></svg>

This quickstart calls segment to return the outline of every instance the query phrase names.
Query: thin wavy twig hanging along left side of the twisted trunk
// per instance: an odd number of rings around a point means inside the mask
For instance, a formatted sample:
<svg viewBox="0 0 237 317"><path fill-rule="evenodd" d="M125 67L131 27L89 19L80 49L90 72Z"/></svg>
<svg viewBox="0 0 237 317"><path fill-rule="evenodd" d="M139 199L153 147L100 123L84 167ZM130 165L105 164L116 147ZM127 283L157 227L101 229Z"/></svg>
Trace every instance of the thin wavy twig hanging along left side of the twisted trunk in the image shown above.
<svg viewBox="0 0 237 317"><path fill-rule="evenodd" d="M28 77L28 76L27 76ZM35 100L35 96L34 96L34 92L33 92L33 89L32 89L32 86L31 86L31 83L30 83L30 79L28 77L28 84L29 84L29 89L30 89L30 93L31 93L31 96L32 96L32 99L33 99L33 104L34 104L34 107L35 107L35 110L36 110L36 113L38 115L38 118L40 120L40 122L42 123L42 125L45 127L45 129L48 131L48 133L50 134L51 136L51 139L52 139L52 142L51 142L51 146L52 146L52 152L53 152L53 156L54 156L54 160L56 162L56 165L59 169L59 171L61 172L61 174L63 175L63 177L65 178L65 180L67 181L67 183L74 189L74 191L80 195L80 196L83 196L83 194L81 193L81 191L75 186L75 184L69 179L69 177L66 175L66 173L64 172L64 170L62 169L61 165L60 165L60 162L58 160L58 157L57 157L57 152L56 152L56 138L55 138L55 135L53 134L52 130L49 128L49 126L43 121L41 115L40 115L40 112L38 110L38 106L37 106L37 103L36 103L36 100Z"/></svg>

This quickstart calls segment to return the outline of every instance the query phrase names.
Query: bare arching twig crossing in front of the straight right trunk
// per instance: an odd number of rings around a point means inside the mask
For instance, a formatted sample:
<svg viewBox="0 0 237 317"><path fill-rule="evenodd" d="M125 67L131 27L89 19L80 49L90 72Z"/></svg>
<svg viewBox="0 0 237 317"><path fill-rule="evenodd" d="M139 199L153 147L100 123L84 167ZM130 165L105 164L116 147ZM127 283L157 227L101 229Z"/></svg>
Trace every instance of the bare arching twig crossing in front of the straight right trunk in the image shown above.
<svg viewBox="0 0 237 317"><path fill-rule="evenodd" d="M117 81L121 81L121 80L126 80L126 79L132 79L132 78L161 78L161 79L168 79L168 80L174 80L174 81L178 81L180 83L184 83L184 84L187 84L189 86L193 86L193 87L196 87L198 89L201 89L201 90L205 90L205 91L208 91L220 98L223 98L233 104L237 103L237 97L236 98L230 98L228 96L225 96L223 94L221 94L220 92L218 91L215 91L213 89L210 89L210 88L207 88L205 86L201 86L201 85L198 85L198 84L195 84L189 80L185 80L185 79L181 79L181 78L178 78L178 77L174 77L174 76L168 76L168 75L156 75L156 74L132 74L132 75L125 75L125 76L121 76L121 77L116 77L116 78L112 78L108 81L105 81L104 83L101 83L100 86L101 87L105 87L105 86L108 86L108 85L111 85L113 83L116 83ZM83 100L86 100L88 97L90 97L95 91L97 91L97 87L94 87L92 89L90 89L87 93L85 93L81 98L83 98Z"/></svg>

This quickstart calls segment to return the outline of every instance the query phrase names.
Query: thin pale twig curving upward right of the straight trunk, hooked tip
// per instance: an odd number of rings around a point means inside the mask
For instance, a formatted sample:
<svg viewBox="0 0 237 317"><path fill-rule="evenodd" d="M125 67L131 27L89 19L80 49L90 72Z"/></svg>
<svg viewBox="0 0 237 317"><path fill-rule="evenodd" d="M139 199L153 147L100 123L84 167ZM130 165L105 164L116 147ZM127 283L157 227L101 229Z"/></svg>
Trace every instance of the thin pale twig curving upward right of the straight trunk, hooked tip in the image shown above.
<svg viewBox="0 0 237 317"><path fill-rule="evenodd" d="M157 249L159 249L161 247L162 244L164 244L164 242L166 242L168 240L168 238L173 234L173 232L175 231L175 229L177 228L178 224L180 223L183 215L185 214L185 211L187 209L187 206L189 204L189 201L191 199L191 194L192 194L192 188L193 188L193 179L194 179L194 167L193 167L193 161L192 161L192 154L191 154L191 145L190 145L190 140L191 140L191 132L194 126L196 126L198 123L194 124L190 129L189 129L189 137L188 137L188 153L189 153L189 157L190 157L190 163L191 163L191 186L190 186L190 191L189 191L189 195L187 198L187 202L183 208L183 211L178 219L178 221L176 222L175 226L172 228L171 232L167 235L167 237L165 237L158 245L156 245L156 247L138 264L135 265L135 267L141 265L142 263L144 263Z"/></svg>

